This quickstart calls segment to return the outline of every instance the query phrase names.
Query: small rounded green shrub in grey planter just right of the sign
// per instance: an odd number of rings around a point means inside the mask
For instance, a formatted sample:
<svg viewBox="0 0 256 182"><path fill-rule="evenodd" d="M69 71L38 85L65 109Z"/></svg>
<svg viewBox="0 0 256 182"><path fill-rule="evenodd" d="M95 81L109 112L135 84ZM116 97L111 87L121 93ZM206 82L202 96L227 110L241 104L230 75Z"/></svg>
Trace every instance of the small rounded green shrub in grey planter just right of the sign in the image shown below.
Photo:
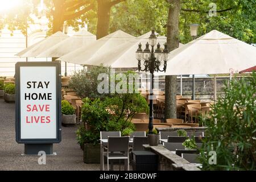
<svg viewBox="0 0 256 182"><path fill-rule="evenodd" d="M61 101L61 113L62 121L61 123L64 126L75 125L76 124L76 114L75 109L68 101Z"/></svg>

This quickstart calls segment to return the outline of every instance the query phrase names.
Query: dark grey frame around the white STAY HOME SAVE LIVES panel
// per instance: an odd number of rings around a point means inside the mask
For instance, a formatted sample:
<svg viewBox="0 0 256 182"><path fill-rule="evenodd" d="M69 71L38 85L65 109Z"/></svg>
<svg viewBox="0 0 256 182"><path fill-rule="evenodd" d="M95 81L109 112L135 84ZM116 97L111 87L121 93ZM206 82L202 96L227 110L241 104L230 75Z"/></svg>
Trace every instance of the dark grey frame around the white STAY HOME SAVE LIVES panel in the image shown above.
<svg viewBox="0 0 256 182"><path fill-rule="evenodd" d="M56 68L56 138L22 139L20 129L20 67ZM48 144L61 142L61 65L59 62L18 62L15 64L15 131L16 142L24 144Z"/></svg>

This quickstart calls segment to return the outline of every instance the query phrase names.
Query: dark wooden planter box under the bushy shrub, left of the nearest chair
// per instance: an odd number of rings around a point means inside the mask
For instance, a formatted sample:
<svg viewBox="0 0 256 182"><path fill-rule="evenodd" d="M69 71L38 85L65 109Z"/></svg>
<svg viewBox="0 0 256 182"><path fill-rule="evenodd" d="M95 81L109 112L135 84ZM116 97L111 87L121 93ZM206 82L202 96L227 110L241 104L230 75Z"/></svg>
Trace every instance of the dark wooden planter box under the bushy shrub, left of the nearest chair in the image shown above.
<svg viewBox="0 0 256 182"><path fill-rule="evenodd" d="M84 144L84 163L100 163L100 152L101 146L100 144Z"/></svg>

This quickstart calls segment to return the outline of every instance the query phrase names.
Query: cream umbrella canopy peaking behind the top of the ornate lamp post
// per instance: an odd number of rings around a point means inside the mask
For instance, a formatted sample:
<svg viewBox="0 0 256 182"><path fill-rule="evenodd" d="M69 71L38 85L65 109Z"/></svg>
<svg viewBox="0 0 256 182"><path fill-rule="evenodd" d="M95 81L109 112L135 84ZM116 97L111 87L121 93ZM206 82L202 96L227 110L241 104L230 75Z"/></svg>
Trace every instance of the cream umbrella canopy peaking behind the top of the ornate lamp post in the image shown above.
<svg viewBox="0 0 256 182"><path fill-rule="evenodd" d="M131 39L129 42L122 44L121 46L110 49L104 54L94 56L92 59L85 60L85 65L108 65L112 68L138 68L138 60L136 59L135 52L138 49L138 44L143 46L148 42L148 38L151 35L151 31L139 36L138 38ZM166 43L165 36L158 37L158 43L163 47Z"/></svg>

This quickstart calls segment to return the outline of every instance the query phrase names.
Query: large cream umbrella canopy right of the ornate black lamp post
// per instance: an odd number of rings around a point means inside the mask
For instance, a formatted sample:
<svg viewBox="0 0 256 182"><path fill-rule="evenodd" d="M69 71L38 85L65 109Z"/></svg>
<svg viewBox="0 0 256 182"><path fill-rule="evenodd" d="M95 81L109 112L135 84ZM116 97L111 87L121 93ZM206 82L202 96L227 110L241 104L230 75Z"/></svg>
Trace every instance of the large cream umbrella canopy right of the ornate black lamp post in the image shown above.
<svg viewBox="0 0 256 182"><path fill-rule="evenodd" d="M158 75L196 75L235 72L256 65L256 47L217 30L170 53L166 73Z"/></svg>

